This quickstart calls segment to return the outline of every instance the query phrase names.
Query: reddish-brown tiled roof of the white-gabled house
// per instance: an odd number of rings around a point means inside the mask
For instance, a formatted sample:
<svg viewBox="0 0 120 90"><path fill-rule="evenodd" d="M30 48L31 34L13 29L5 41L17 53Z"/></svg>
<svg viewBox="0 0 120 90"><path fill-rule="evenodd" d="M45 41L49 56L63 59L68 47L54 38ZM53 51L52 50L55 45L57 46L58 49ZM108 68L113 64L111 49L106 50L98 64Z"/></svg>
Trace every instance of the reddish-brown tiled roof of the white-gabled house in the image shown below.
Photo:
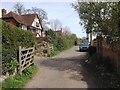
<svg viewBox="0 0 120 90"><path fill-rule="evenodd" d="M13 17L18 23L21 23L21 24L24 24L24 25L27 25L27 26L31 26L36 15L37 14L18 15L14 12L9 12L8 14L6 14L2 18L4 19L4 18Z"/></svg>

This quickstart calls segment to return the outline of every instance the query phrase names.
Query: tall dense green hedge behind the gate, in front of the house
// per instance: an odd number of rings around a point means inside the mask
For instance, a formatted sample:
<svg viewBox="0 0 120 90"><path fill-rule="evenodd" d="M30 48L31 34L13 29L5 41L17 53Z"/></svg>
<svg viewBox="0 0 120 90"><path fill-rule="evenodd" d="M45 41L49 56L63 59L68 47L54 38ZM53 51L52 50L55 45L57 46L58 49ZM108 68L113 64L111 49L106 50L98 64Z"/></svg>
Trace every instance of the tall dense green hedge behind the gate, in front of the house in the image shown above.
<svg viewBox="0 0 120 90"><path fill-rule="evenodd" d="M3 68L12 58L18 59L19 46L32 47L35 43L33 34L2 21L2 62Z"/></svg>

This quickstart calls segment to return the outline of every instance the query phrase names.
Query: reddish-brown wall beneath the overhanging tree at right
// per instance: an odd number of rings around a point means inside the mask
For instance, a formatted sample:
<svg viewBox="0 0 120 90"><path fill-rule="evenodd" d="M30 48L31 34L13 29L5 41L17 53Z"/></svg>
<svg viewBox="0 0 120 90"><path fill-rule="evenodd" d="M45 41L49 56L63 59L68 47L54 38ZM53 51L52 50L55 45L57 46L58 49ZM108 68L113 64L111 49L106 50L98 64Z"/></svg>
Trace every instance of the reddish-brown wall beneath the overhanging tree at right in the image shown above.
<svg viewBox="0 0 120 90"><path fill-rule="evenodd" d="M97 53L100 56L109 57L111 59L111 62L116 67L117 71L120 72L120 48L118 48L117 44L116 49L113 50L103 38L98 38Z"/></svg>

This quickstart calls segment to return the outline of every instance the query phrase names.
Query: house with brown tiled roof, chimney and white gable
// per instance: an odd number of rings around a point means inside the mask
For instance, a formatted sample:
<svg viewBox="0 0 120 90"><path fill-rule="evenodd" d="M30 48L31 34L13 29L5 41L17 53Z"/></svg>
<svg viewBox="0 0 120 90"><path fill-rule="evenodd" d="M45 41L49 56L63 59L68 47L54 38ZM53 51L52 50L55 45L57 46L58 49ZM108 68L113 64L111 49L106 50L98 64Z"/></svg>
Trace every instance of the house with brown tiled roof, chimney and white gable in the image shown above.
<svg viewBox="0 0 120 90"><path fill-rule="evenodd" d="M14 12L9 12L2 9L2 20L11 23L23 30L31 31L36 37L45 37L42 30L42 20L38 18L37 14L23 14L18 15Z"/></svg>

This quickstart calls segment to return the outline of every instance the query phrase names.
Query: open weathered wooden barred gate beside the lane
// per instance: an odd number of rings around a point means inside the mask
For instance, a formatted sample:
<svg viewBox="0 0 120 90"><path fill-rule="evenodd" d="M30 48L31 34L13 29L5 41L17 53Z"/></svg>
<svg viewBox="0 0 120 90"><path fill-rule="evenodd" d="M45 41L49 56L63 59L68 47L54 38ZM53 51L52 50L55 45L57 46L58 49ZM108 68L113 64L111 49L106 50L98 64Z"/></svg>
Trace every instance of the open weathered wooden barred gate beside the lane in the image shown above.
<svg viewBox="0 0 120 90"><path fill-rule="evenodd" d="M19 46L19 73L22 74L22 71L33 64L34 60L34 47L31 48L21 48Z"/></svg>

